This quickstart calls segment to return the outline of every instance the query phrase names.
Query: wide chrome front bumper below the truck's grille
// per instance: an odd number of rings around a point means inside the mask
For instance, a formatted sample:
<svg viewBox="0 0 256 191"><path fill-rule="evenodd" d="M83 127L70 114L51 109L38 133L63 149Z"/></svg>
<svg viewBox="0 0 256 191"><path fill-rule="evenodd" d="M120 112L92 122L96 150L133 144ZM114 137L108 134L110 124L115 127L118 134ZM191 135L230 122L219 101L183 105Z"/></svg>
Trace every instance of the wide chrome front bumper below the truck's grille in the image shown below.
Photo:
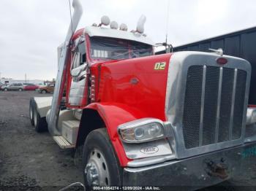
<svg viewBox="0 0 256 191"><path fill-rule="evenodd" d="M141 168L124 168L124 186L179 187L196 190L241 174L255 165L256 142Z"/></svg>

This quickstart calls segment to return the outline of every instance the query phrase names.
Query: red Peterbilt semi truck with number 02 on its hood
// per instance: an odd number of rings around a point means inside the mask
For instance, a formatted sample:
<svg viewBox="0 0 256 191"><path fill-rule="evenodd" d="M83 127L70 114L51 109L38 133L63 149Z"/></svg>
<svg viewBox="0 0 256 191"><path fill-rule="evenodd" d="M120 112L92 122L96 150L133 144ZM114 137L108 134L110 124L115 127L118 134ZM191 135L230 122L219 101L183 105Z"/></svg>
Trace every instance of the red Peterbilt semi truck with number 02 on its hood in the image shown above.
<svg viewBox="0 0 256 191"><path fill-rule="evenodd" d="M154 55L145 17L131 32L102 17L73 33L82 14L73 7L53 96L31 98L30 118L62 149L83 147L86 185L197 189L254 163L249 62L221 51Z"/></svg>

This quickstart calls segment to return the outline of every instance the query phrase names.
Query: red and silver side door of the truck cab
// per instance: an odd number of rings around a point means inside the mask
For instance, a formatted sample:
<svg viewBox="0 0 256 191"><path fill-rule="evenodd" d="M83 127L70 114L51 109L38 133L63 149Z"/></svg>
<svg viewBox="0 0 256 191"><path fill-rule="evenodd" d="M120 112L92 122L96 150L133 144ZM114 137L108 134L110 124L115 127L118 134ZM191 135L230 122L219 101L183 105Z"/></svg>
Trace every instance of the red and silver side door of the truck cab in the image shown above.
<svg viewBox="0 0 256 191"><path fill-rule="evenodd" d="M89 65L86 63L85 39L80 37L72 49L70 66L70 88L68 104L70 106L86 106L88 104Z"/></svg>

